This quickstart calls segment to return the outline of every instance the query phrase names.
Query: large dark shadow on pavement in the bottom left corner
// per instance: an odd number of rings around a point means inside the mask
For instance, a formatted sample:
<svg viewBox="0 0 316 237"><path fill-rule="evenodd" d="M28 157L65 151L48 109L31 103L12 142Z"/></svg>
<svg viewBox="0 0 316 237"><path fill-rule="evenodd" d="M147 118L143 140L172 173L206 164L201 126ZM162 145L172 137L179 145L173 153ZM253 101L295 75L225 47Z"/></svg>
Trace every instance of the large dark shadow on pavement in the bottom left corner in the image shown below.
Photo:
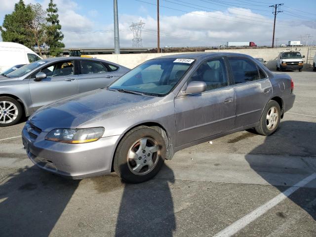
<svg viewBox="0 0 316 237"><path fill-rule="evenodd" d="M35 166L3 177L0 236L49 236L78 185Z"/></svg>

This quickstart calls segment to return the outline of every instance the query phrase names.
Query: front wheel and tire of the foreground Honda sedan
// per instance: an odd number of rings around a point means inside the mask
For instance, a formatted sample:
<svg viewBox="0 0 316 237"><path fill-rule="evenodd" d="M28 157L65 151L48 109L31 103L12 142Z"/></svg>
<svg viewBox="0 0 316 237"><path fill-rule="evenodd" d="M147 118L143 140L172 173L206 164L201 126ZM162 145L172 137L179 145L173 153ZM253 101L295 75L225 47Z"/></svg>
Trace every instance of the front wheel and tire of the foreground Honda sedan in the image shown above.
<svg viewBox="0 0 316 237"><path fill-rule="evenodd" d="M165 144L161 134L151 127L132 129L118 144L114 170L127 183L142 183L152 179L166 157Z"/></svg>

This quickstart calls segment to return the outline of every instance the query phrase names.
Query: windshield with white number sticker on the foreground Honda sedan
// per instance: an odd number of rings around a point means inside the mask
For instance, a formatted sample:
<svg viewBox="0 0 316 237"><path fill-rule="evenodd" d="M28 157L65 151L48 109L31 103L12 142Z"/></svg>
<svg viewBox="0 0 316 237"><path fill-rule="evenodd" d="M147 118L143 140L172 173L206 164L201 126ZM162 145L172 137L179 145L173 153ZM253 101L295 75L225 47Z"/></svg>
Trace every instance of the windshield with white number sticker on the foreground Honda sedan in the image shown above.
<svg viewBox="0 0 316 237"><path fill-rule="evenodd" d="M164 95L180 81L193 62L193 59L176 58L149 60L126 73L108 88Z"/></svg>

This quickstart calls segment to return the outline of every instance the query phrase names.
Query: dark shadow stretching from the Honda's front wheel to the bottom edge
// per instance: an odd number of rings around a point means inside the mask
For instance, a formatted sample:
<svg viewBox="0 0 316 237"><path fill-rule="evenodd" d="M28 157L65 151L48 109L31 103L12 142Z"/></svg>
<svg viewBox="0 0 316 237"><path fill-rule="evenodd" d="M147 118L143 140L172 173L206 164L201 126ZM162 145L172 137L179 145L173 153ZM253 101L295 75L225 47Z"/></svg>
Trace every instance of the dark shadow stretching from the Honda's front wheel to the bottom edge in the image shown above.
<svg viewBox="0 0 316 237"><path fill-rule="evenodd" d="M172 237L176 222L169 183L174 183L174 174L167 165L160 172L159 178L125 185L116 237Z"/></svg>

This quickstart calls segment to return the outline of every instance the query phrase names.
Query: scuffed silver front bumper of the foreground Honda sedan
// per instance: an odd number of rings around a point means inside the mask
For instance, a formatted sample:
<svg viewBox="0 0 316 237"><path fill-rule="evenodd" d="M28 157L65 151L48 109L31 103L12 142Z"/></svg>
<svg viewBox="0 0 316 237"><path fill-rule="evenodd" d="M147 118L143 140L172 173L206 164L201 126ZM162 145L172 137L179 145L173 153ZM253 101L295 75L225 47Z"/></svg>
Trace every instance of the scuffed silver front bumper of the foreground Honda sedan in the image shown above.
<svg viewBox="0 0 316 237"><path fill-rule="evenodd" d="M45 140L47 132L37 137L24 127L22 142L28 157L41 169L82 179L111 173L112 159L120 135L103 137L85 144L67 144Z"/></svg>

